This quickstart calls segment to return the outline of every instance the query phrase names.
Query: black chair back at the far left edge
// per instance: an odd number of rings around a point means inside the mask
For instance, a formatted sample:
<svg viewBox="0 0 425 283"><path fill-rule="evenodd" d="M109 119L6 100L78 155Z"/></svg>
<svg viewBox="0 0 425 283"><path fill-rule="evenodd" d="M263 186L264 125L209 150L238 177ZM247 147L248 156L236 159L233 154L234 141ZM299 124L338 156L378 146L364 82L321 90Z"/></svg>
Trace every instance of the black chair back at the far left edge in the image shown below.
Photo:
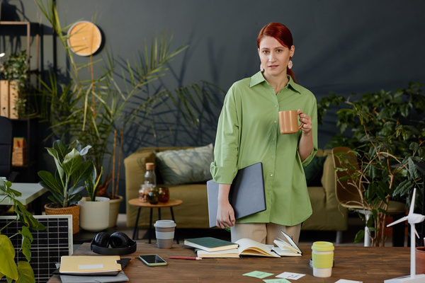
<svg viewBox="0 0 425 283"><path fill-rule="evenodd" d="M0 177L13 182L18 173L12 171L13 127L11 120L0 117Z"/></svg>

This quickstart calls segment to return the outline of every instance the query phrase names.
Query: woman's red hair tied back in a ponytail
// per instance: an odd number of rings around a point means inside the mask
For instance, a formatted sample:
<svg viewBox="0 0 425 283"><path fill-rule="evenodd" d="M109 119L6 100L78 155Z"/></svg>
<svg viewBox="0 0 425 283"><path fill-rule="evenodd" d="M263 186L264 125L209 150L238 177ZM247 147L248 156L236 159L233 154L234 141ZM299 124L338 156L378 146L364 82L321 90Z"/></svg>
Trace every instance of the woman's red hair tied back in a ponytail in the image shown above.
<svg viewBox="0 0 425 283"><path fill-rule="evenodd" d="M264 25L263 28L261 28L259 36L257 37L258 48L260 48L260 42L265 36L274 37L281 45L285 47L290 48L293 46L292 33L290 33L289 28L281 23L269 23L268 25ZM290 59L292 59L292 57L290 57ZM286 68L286 73L291 76L293 81L296 82L295 74L288 67Z"/></svg>

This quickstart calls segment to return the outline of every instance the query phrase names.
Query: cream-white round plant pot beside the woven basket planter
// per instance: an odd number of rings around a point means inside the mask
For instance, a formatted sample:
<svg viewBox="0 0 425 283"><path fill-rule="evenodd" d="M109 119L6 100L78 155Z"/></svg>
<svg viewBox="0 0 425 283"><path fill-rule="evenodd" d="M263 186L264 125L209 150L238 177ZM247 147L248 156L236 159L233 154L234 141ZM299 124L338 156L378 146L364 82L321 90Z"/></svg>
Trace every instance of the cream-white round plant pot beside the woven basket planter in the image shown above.
<svg viewBox="0 0 425 283"><path fill-rule="evenodd" d="M102 231L109 225L109 199L108 197L96 197L94 202L89 197L83 197L79 202L80 227L86 231Z"/></svg>

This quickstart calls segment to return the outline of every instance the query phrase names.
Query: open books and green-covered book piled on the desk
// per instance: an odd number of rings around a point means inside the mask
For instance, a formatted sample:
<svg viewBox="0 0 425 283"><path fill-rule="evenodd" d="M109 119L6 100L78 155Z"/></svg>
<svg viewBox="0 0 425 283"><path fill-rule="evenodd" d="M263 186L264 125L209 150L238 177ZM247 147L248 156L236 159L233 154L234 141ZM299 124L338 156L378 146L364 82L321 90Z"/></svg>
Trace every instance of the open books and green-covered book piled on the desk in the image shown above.
<svg viewBox="0 0 425 283"><path fill-rule="evenodd" d="M290 238L285 233L283 234ZM293 242L287 243L278 239L275 243L278 245L277 247L265 245L249 238L242 238L234 243L212 237L184 240L186 246L195 248L198 258L240 258L242 255L280 258L280 256L302 255L301 250Z"/></svg>

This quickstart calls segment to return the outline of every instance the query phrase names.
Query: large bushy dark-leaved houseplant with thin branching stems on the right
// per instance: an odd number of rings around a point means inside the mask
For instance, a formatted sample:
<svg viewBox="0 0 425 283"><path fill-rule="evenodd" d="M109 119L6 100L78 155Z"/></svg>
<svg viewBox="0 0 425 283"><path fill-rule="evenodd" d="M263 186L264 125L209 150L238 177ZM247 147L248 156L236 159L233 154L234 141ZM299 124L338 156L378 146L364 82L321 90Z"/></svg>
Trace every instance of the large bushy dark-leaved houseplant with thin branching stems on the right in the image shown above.
<svg viewBox="0 0 425 283"><path fill-rule="evenodd" d="M389 200L409 202L414 187L421 183L414 166L425 158L425 96L420 87L409 83L408 88L364 93L359 98L352 94L348 99L331 93L318 103L319 123L331 104L344 103L344 108L336 112L336 126L341 132L327 147L348 146L358 157L359 169L349 178L364 209L372 212L366 223L371 233L366 236L375 246L385 244ZM416 200L422 199L422 193L417 190ZM355 241L363 236L365 231L359 231Z"/></svg>

